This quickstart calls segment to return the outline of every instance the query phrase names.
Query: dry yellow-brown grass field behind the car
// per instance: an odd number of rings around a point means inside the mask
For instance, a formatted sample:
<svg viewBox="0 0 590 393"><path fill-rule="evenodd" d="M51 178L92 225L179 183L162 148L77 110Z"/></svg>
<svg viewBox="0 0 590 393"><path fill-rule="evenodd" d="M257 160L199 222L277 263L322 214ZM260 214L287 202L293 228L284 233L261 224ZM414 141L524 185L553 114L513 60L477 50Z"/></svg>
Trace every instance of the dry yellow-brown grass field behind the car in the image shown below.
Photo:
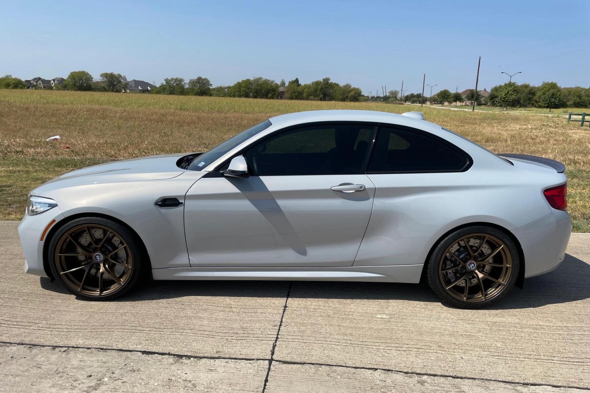
<svg viewBox="0 0 590 393"><path fill-rule="evenodd" d="M379 103L0 90L0 219L19 220L28 191L67 171L124 158L207 150L271 115L317 109L394 113ZM496 153L568 167L575 230L590 231L590 130L562 117L424 107L425 117ZM45 139L60 135L61 140ZM62 148L69 146L69 149Z"/></svg>

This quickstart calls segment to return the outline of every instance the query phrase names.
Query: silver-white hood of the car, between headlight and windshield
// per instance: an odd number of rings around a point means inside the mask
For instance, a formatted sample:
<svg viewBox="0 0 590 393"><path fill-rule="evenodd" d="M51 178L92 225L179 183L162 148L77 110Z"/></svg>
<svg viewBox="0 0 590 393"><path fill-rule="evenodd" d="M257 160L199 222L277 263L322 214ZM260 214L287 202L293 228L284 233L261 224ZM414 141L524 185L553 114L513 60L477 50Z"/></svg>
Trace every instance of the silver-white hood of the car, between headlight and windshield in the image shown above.
<svg viewBox="0 0 590 393"><path fill-rule="evenodd" d="M186 154L133 158L114 161L74 170L55 177L31 191L40 195L44 191L83 184L113 183L119 181L163 180L179 176L186 170L176 166L176 161Z"/></svg>

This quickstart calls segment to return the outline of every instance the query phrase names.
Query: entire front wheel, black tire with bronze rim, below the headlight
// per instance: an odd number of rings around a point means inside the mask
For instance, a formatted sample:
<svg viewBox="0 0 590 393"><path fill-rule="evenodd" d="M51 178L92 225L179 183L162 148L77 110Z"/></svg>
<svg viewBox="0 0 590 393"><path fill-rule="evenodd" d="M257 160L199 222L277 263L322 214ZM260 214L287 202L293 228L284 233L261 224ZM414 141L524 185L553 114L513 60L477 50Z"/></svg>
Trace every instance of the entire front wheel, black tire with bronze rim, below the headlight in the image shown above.
<svg viewBox="0 0 590 393"><path fill-rule="evenodd" d="M86 299L113 299L137 282L142 268L139 242L129 229L101 217L73 220L58 229L49 246L51 272Z"/></svg>

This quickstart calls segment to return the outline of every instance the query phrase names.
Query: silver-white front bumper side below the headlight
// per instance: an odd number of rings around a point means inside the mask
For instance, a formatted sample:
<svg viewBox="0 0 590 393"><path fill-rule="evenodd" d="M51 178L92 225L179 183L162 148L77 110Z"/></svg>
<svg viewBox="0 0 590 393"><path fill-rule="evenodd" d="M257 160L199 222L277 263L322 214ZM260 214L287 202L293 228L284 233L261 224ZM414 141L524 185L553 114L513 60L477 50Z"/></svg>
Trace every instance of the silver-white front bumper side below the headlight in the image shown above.
<svg viewBox="0 0 590 393"><path fill-rule="evenodd" d="M36 216L29 216L25 213L25 216L22 217L21 223L18 225L18 236L21 238L22 252L25 255L25 273L48 277L43 267L43 246L50 239L45 234L44 240L41 241L41 235L53 220L55 222L47 230L47 233L64 218L59 207L54 207Z"/></svg>

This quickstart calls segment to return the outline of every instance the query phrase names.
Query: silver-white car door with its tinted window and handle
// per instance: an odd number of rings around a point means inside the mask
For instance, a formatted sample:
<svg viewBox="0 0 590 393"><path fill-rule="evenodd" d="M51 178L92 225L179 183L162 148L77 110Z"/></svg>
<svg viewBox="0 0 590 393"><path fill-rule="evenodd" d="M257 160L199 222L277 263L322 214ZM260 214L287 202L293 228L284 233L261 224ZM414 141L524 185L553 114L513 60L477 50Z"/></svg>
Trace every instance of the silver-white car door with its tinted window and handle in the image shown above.
<svg viewBox="0 0 590 393"><path fill-rule="evenodd" d="M185 199L191 266L352 266L375 187L374 126L279 131L245 151L250 177L211 172Z"/></svg>

